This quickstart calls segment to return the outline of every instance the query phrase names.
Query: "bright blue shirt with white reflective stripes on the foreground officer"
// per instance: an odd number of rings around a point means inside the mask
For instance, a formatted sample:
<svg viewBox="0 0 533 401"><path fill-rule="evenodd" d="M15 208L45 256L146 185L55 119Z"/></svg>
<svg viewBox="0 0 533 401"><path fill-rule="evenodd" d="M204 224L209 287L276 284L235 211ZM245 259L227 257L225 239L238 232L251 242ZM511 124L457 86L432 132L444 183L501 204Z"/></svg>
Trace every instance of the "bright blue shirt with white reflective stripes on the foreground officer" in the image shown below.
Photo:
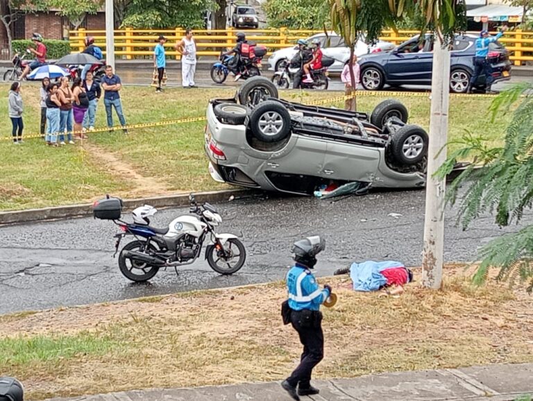
<svg viewBox="0 0 533 401"><path fill-rule="evenodd" d="M330 291L320 289L313 273L301 264L296 264L287 273L287 291L289 307L295 311L318 311L320 305L330 296Z"/></svg>

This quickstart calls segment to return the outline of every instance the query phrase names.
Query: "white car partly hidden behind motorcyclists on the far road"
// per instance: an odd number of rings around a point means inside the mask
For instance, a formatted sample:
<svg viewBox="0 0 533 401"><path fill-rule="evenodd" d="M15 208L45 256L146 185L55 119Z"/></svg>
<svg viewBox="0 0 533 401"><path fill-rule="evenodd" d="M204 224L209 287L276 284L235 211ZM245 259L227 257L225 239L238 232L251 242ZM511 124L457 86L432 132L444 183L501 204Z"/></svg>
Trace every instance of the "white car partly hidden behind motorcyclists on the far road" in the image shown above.
<svg viewBox="0 0 533 401"><path fill-rule="evenodd" d="M317 33L307 38L309 44L312 43L314 39L319 39L321 43L321 49L324 56L328 56L335 59L335 62L328 67L330 72L341 72L344 68L344 63L350 58L350 49L344 44L342 37L336 33L330 33L328 36L325 33ZM378 40L373 45L366 44L364 40L357 40L355 43L355 54L357 57L363 56L368 53L376 53L380 51L391 51L394 49L395 45L390 42L384 42L383 40ZM285 49L280 49L274 51L269 57L269 70L278 71L279 62L283 59L291 60L298 51L298 46L287 47Z"/></svg>

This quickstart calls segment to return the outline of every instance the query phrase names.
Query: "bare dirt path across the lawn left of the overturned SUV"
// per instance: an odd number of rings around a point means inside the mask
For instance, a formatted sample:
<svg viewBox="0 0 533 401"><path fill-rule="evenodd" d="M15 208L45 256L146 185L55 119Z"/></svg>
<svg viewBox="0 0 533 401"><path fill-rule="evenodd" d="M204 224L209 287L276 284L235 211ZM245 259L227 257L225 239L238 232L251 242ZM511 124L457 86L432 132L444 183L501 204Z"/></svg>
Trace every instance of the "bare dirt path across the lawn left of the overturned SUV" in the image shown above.
<svg viewBox="0 0 533 401"><path fill-rule="evenodd" d="M113 175L126 178L126 180L133 182L133 187L135 189L121 193L121 196L141 198L144 196L176 194L176 191L169 189L167 183L162 179L143 176L136 171L131 164L124 162L117 153L110 153L99 146L87 142L83 143L83 149L87 151L96 162L107 167L108 171Z"/></svg>

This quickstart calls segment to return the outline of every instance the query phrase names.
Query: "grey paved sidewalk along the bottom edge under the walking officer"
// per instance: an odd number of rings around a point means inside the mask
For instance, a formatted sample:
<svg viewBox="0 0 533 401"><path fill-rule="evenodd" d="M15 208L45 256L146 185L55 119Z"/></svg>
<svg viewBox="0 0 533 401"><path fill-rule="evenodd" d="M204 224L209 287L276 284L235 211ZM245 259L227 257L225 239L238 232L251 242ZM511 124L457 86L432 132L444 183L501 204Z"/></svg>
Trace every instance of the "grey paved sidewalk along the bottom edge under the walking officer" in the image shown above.
<svg viewBox="0 0 533 401"><path fill-rule="evenodd" d="M473 344L473 346L475 346ZM533 394L533 364L384 373L355 379L316 380L320 395L308 401L511 401ZM139 380L142 383L142 379ZM289 401L280 382L195 389L125 391L53 401Z"/></svg>

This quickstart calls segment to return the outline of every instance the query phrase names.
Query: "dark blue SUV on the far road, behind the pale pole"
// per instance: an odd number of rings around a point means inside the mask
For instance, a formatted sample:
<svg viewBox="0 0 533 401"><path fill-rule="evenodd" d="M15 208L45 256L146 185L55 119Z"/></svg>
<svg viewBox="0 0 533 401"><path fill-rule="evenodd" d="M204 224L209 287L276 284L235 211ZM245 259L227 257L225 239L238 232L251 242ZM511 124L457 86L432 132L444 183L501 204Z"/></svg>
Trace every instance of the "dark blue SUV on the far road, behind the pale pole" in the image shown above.
<svg viewBox="0 0 533 401"><path fill-rule="evenodd" d="M456 35L452 44L450 90L464 93L474 71L475 35ZM419 47L420 46L420 47ZM359 60L361 84L367 90L380 90L385 84L431 85L433 67L433 38L416 35L387 53L369 54ZM509 51L498 42L489 45L489 62L495 81L509 80L511 62ZM485 77L480 76L475 89L484 90Z"/></svg>

